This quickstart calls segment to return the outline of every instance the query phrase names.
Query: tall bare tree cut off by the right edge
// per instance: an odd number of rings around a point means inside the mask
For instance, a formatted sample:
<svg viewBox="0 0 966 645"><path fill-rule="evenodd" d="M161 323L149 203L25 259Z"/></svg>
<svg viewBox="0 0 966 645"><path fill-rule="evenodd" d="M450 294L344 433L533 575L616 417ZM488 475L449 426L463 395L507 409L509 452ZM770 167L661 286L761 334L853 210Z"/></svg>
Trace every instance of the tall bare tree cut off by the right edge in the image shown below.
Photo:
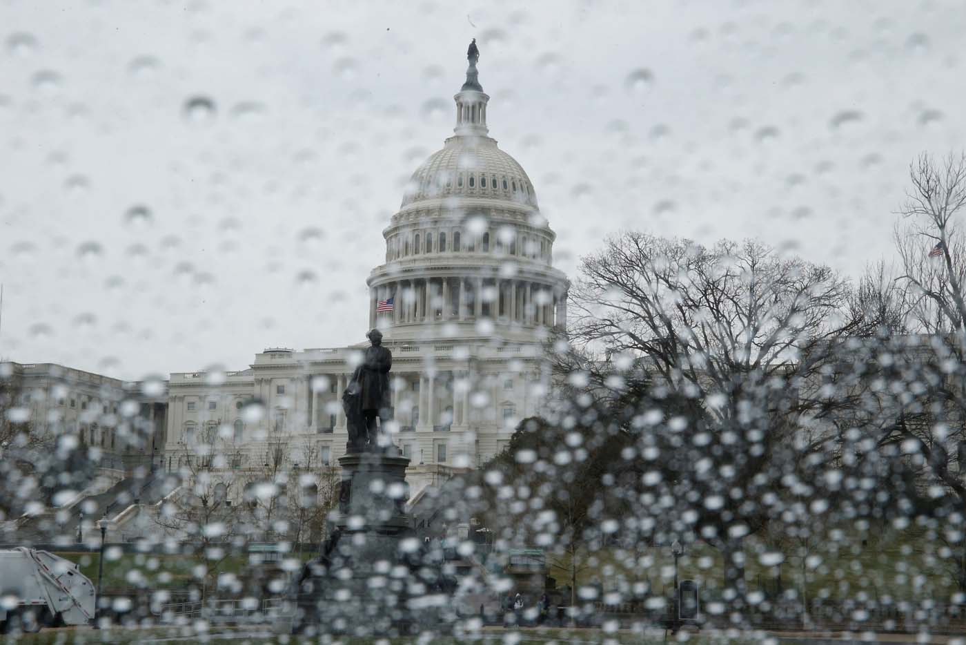
<svg viewBox="0 0 966 645"><path fill-rule="evenodd" d="M921 155L910 165L911 189L895 226L895 246L909 292L914 331L903 373L896 380L920 396L901 407L901 420L884 438L911 453L923 485L938 485L955 499L945 520L966 524L966 155L936 161ZM930 495L936 498L935 491ZM966 540L953 546L953 577L966 591Z"/></svg>

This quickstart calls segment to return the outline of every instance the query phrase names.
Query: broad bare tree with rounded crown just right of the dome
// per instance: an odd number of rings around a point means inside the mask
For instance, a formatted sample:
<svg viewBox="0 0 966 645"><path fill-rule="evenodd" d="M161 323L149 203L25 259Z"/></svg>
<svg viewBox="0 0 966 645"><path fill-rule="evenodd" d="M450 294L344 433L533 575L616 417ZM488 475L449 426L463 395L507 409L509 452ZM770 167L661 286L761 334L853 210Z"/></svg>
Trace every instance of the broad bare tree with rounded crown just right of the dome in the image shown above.
<svg viewBox="0 0 966 645"><path fill-rule="evenodd" d="M848 401L824 381L844 338L870 331L848 281L753 241L628 232L582 259L572 292L559 368L639 438L625 485L650 481L640 499L673 500L635 512L721 548L728 593L741 595L743 539L771 513L762 499L830 458Z"/></svg>

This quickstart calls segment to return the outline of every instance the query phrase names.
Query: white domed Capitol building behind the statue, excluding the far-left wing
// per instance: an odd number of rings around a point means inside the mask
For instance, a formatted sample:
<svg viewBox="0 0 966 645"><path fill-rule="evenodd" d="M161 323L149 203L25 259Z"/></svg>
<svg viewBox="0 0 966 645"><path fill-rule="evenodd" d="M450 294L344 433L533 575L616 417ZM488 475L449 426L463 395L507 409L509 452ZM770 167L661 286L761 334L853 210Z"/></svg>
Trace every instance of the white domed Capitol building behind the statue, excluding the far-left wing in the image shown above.
<svg viewBox="0 0 966 645"><path fill-rule="evenodd" d="M366 279L369 325L393 354L390 436L416 481L479 465L541 410L543 343L567 318L554 231L523 167L489 136L474 53L453 135L412 173L383 231L384 263ZM261 463L283 438L334 464L348 438L342 392L367 344L267 349L241 371L171 374L164 468L177 470L199 436L229 444L228 468Z"/></svg>

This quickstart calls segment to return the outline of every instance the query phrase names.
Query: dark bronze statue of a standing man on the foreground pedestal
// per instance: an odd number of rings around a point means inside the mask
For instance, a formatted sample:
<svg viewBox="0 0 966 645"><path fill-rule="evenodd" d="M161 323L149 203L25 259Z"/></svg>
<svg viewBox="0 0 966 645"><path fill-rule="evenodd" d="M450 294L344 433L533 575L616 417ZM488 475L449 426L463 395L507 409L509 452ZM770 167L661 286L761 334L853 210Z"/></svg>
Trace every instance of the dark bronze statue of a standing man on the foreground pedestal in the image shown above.
<svg viewBox="0 0 966 645"><path fill-rule="evenodd" d="M342 393L342 409L349 431L348 453L379 452L379 427L389 419L392 409L389 398L392 352L383 347L383 334L378 329L366 337L372 345L366 348L362 364L355 368L349 386Z"/></svg>

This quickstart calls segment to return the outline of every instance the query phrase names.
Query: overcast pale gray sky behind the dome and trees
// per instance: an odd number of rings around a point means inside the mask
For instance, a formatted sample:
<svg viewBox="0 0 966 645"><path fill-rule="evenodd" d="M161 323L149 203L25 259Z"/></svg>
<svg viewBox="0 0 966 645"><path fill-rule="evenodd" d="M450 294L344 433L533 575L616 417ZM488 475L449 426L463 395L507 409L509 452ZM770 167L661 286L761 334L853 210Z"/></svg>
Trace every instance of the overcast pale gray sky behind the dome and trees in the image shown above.
<svg viewBox="0 0 966 645"><path fill-rule="evenodd" d="M627 227L855 276L909 161L963 146L964 33L952 1L0 0L0 357L139 378L360 340L472 37L572 277Z"/></svg>

